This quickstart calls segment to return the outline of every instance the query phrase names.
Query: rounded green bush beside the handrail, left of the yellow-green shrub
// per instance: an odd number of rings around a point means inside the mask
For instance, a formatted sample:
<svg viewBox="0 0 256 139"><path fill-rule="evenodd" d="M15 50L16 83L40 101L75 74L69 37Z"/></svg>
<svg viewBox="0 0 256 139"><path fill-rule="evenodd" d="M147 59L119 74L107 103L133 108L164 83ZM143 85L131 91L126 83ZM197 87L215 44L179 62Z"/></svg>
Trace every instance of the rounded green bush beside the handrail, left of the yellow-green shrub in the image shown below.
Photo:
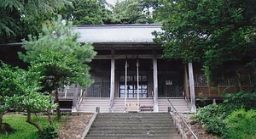
<svg viewBox="0 0 256 139"><path fill-rule="evenodd" d="M199 108L195 117L201 121L201 125L208 133L220 136L224 131L225 109L223 105L207 105Z"/></svg>

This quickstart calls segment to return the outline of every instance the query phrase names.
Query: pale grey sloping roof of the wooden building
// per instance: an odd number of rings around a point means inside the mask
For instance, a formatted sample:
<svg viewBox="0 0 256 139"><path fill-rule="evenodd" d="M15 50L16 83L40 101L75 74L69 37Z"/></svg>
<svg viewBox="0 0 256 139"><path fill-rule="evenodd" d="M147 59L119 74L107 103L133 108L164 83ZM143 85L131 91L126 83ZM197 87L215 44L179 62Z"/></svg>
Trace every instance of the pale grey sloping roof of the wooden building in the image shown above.
<svg viewBox="0 0 256 139"><path fill-rule="evenodd" d="M79 42L153 42L153 31L161 25L79 25Z"/></svg>

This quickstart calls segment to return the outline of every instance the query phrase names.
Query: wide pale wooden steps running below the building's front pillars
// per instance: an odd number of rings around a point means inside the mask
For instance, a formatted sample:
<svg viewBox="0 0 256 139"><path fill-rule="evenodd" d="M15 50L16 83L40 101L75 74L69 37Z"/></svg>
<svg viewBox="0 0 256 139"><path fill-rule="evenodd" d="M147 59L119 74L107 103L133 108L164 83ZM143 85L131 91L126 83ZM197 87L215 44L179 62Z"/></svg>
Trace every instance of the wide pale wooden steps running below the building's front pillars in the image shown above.
<svg viewBox="0 0 256 139"><path fill-rule="evenodd" d="M177 112L189 112L188 104L183 98L170 98L172 105L177 109ZM126 103L137 103L137 98L127 98ZM140 113L152 113L153 100L152 98L140 98L139 103L141 106ZM171 104L166 98L158 99L159 112L167 112ZM95 113L96 107L100 108L101 113L109 113L109 97L86 97L78 108L79 113ZM125 113L125 98L114 98L113 113Z"/></svg>

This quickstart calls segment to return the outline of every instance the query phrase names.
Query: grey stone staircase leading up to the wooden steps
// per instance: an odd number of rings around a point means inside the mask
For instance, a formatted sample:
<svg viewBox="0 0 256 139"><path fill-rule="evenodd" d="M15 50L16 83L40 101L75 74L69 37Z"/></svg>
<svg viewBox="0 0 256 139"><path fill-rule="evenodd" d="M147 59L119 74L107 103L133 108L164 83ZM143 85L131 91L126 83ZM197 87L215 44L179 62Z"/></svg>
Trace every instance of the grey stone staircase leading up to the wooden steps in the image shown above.
<svg viewBox="0 0 256 139"><path fill-rule="evenodd" d="M182 139L168 113L100 113L85 139Z"/></svg>

